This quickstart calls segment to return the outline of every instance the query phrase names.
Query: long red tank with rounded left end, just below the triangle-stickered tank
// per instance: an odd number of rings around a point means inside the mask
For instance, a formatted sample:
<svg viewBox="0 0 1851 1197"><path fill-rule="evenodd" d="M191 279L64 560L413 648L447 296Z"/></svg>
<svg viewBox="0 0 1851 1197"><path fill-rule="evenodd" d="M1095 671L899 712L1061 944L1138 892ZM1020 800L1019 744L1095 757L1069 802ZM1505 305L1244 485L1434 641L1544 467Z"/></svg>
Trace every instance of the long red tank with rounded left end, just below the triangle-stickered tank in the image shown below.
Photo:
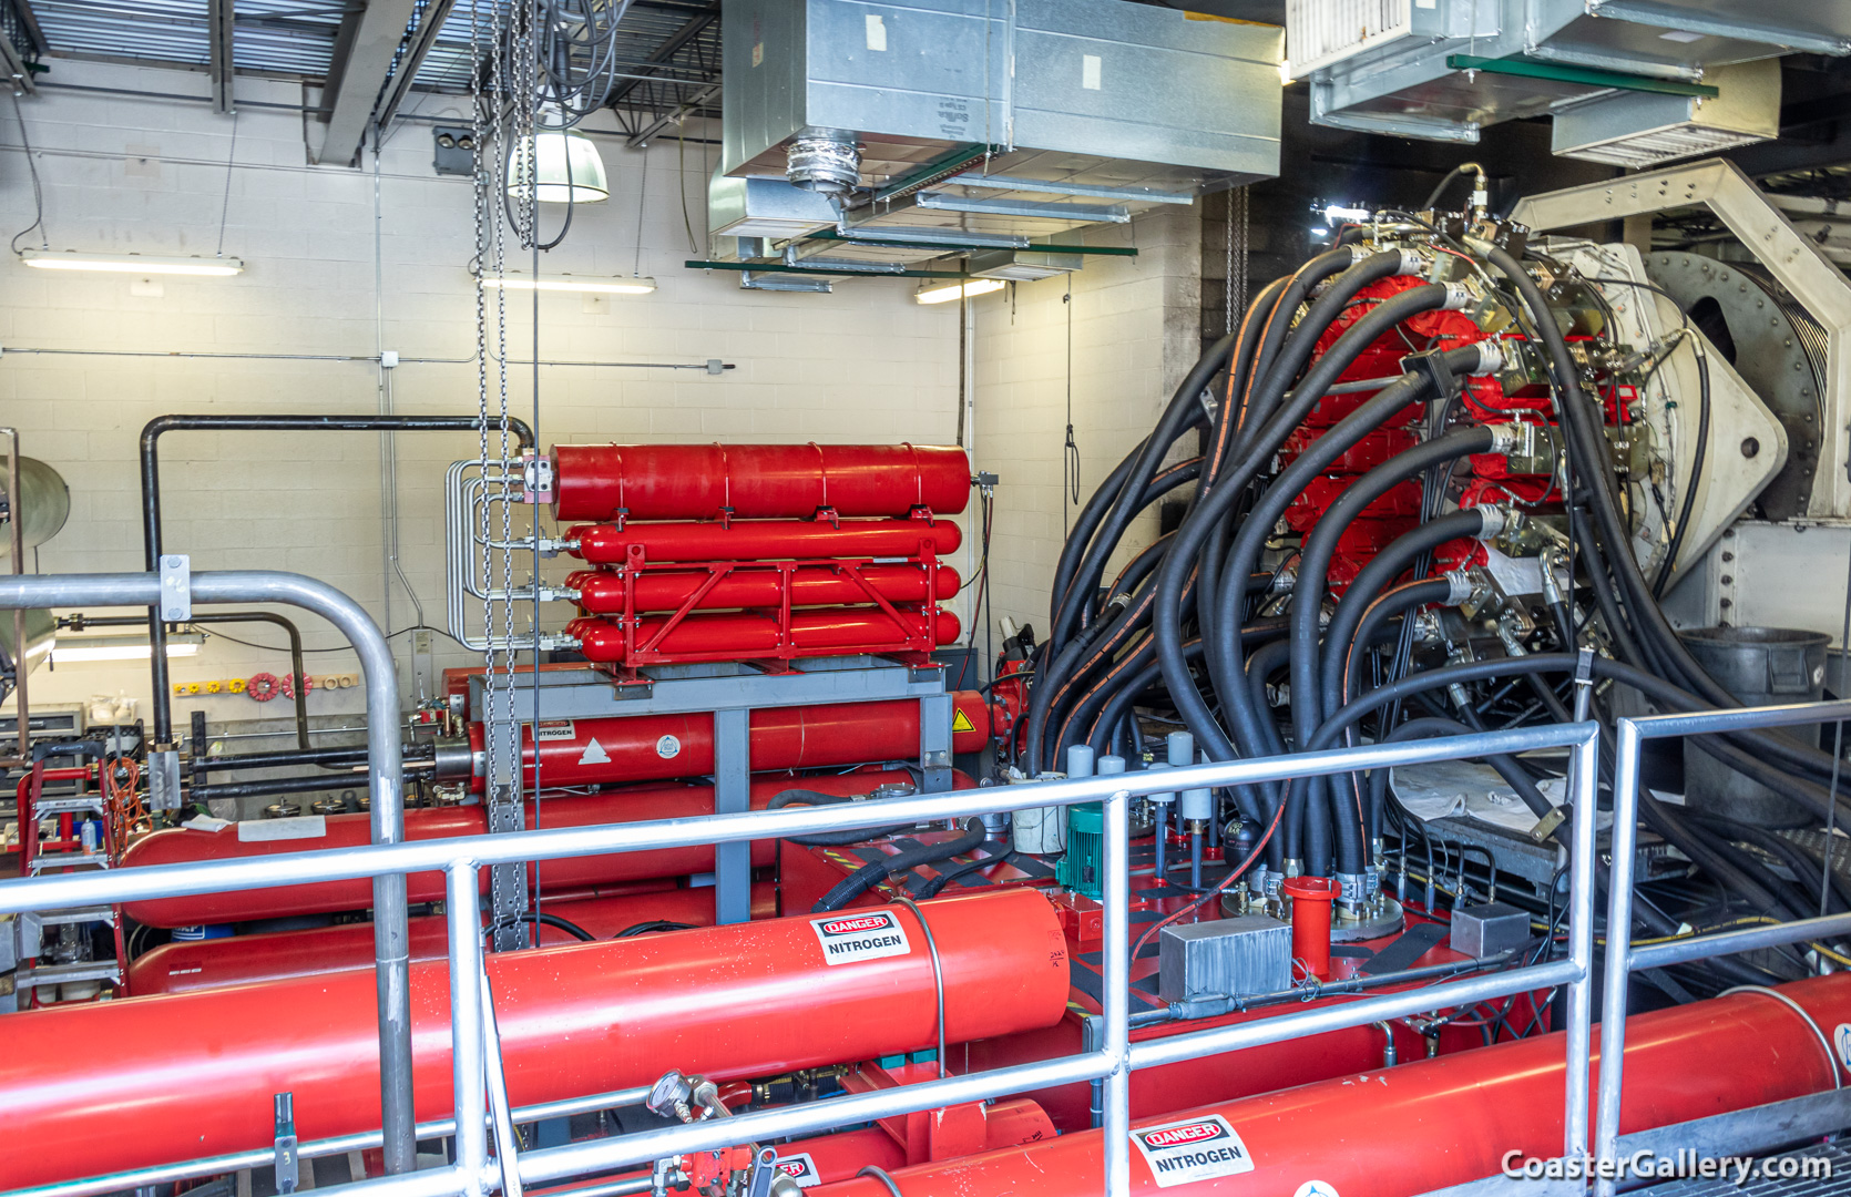
<svg viewBox="0 0 1851 1197"><path fill-rule="evenodd" d="M866 794L883 783L911 783L911 773L844 773L839 777L779 777L752 783L752 805L763 810L772 797L790 788L820 790L824 794ZM970 784L959 777L963 788ZM576 794L528 803L528 827L592 827L598 823L640 823L646 820L683 820L713 814L711 786L650 786L613 790L609 794ZM191 831L176 827L157 831L139 840L122 855L124 868L143 864L180 864L185 860L239 860L246 857L274 857L318 847L354 847L372 840L370 814L329 814L324 834L313 840L252 840L237 838L235 827L222 831ZM407 840L441 840L444 836L487 834L487 816L481 807L426 807L405 812ZM777 855L774 840L752 845L752 864L772 864ZM620 881L648 881L683 877L713 870L713 845L665 847L644 853L613 853L574 860L548 860L535 875L550 888L583 888ZM483 873L487 892L487 871ZM405 877L409 899L442 901L442 873L411 873ZM372 907L372 882L322 881L274 890L246 890L242 894L198 894L193 897L155 897L128 903L124 910L150 927L193 927L196 923L239 923L257 918L285 918L291 914L333 914L335 910L365 910Z"/></svg>

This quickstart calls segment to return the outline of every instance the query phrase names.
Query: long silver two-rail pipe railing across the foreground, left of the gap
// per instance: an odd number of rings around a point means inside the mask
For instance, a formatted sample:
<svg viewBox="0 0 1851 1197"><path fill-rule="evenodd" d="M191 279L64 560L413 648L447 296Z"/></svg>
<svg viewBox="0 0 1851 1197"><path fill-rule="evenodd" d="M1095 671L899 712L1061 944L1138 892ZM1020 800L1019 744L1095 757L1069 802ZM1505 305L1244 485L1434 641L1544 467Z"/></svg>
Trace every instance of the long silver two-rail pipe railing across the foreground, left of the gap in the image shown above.
<svg viewBox="0 0 1851 1197"><path fill-rule="evenodd" d="M1586 1051L1590 1040L1586 1019L1590 1003L1584 990L1590 984L1586 962L1592 958L1594 934L1594 803L1583 801L1583 797L1596 792L1597 740L1599 729L1594 723L1525 727L1446 740L1379 744L1262 760L1199 764L1164 773L1124 773L1050 781L1033 786L959 790L953 794L913 796L850 807L753 810L652 823L522 831L455 840L320 849L265 857L263 860L193 862L93 875L33 877L0 881L0 912L346 881L387 871L446 871L450 894L452 1092L453 1108L466 1112L455 1123L457 1162L442 1169L341 1186L341 1191L355 1197L372 1197L376 1193L389 1197L478 1197L502 1188L502 1166L505 1166L505 1162L491 1164L489 1123L483 1117L489 1095L487 1077L491 1075L485 1064L489 1053L500 1053L500 1043L498 1036L487 1029L492 1027L492 1021L483 1018L483 956L476 921L476 877L481 868L513 860L550 860L659 847L733 844L794 834L803 836L822 831L872 829L894 823L924 823L994 812L1000 808L1000 803L1003 803L1001 808L1012 810L1101 801L1105 805L1103 858L1107 879L1101 929L1105 942L1101 969L1105 977L1101 1001L1105 1034L1101 1036L1099 1049L1014 1067L857 1093L826 1103L763 1110L729 1119L711 1119L529 1151L522 1153L515 1162L515 1175L518 1175L522 1186L535 1186L566 1177L615 1173L646 1166L659 1158L731 1147L750 1140L781 1140L1037 1088L1103 1080L1103 1167L1109 1191L1116 1193L1127 1191L1131 1182L1129 1069L1146 1067L1168 1058L1161 1055L1161 1045L1129 1043L1127 810L1133 794L1170 792L1177 786L1238 786L1292 777L1483 757L1488 753L1523 753L1549 747L1573 749L1571 797L1575 799L1575 823L1571 873L1581 884L1573 884L1570 895L1571 951L1568 960L1507 969L1422 992L1360 999L1299 1016L1177 1036L1177 1040L1166 1040L1164 1043L1181 1043L1177 1049L1181 1055L1175 1058L1188 1058L1259 1042L1273 1042L1275 1038L1288 1038L1292 1034L1357 1027L1383 1018L1436 1010L1457 1001L1485 1001L1525 990L1566 984L1571 993L1581 990L1581 995L1570 1003L1571 1025L1566 1038L1564 1127L1570 1143L1586 1141ZM1579 1025L1575 1025L1575 1019L1581 1019ZM1279 1030L1272 1029L1275 1025ZM133 1173L118 1173L118 1178L122 1177L133 1177ZM72 1197L70 1190L63 1186L24 1190L9 1197L28 1195Z"/></svg>

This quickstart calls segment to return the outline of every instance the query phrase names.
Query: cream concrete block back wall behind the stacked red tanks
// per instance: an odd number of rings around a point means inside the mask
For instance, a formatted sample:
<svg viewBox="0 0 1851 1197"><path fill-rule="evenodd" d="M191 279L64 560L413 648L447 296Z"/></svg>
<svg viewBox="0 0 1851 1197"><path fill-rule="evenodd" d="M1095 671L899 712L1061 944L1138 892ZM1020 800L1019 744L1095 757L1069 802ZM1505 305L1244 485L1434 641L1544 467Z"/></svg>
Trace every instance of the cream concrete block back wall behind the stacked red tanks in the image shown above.
<svg viewBox="0 0 1851 1197"><path fill-rule="evenodd" d="M224 253L242 257L246 270L230 279L143 279L0 261L0 424L17 426L26 453L63 472L72 492L68 525L35 555L41 572L143 568L137 433L155 414L374 413L387 403L407 414L476 411L472 191L468 179L433 172L428 126L400 126L378 168L370 157L359 170L311 167L296 111L304 91L291 83L241 78L244 107L233 122L205 104L78 91L204 96L205 76L196 72L59 61L46 81L67 87L46 87L19 111L54 250L215 255L222 237ZM457 122L463 111L441 96L420 107ZM7 104L0 109L7 231L33 220L31 176L11 117ZM779 294L740 290L729 272L687 270L685 259L705 257L714 148L683 150L666 139L637 152L613 135L596 142L611 200L579 207L570 237L540 270L635 270L653 276L659 290L592 303L539 296L539 357L561 363L539 370L542 444L955 438L955 305L922 307L901 279L855 279L829 296ZM548 209L544 220L552 226L559 213ZM20 241L37 244L37 231ZM531 300L509 302L513 359L533 357ZM381 348L404 363L389 379L374 361ZM598 364L700 366L711 357L737 368L714 377L700 368ZM533 418L531 366L511 372L507 400L515 414ZM476 455L476 437L400 435L396 455L400 564L424 620L441 627L442 472ZM415 622L411 594L385 559L376 435L174 433L161 442L161 483L167 544L189 553L193 568L300 570L350 592L391 631ZM566 568L553 564L557 574ZM561 605L557 618L565 614ZM313 618L304 627L309 648L339 644ZM281 644L274 629L228 631ZM409 688L407 642L394 640ZM281 673L287 662L283 651L213 638L172 672L176 681L230 679ZM437 668L470 662L437 640ZM311 673L354 668L346 651L315 653L309 664ZM146 699L146 666L65 664L31 679L35 703L118 690ZM281 703L196 701L215 722L283 714ZM187 707L176 703L181 723ZM359 690L317 694L311 710L352 714Z"/></svg>

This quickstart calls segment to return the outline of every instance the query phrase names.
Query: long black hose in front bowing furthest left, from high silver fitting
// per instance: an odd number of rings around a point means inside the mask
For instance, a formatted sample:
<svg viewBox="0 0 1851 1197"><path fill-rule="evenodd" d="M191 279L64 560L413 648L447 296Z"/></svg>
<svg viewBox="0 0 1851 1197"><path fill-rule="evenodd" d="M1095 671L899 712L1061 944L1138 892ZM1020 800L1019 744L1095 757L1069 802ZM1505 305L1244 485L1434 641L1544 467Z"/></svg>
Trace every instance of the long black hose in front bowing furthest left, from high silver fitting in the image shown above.
<svg viewBox="0 0 1851 1197"><path fill-rule="evenodd" d="M1394 298L1383 300L1366 315L1357 318L1355 324L1344 329L1344 335L1338 337L1336 344L1333 344L1331 350L1325 352L1323 357L1320 357L1307 372L1292 401L1268 420L1266 429L1255 435L1253 448L1240 461L1240 464L1233 468L1229 477L1216 487L1214 494L1207 501L1199 503L1183 522L1183 527L1177 529L1175 546L1170 549L1162 568L1157 572L1153 633L1157 638L1157 653L1162 660L1164 685L1170 688L1170 697L1175 701L1183 722L1196 734L1196 744L1199 744L1212 760L1229 760L1235 755L1235 742L1214 720L1201 690L1188 675L1188 666L1183 662L1179 651L1183 642L1183 586L1192 574L1196 555L1201 551L1203 540L1218 529L1218 524L1227 509L1240 500L1246 487L1272 463L1273 446L1281 442L1290 429L1303 422L1305 414L1322 398L1323 389L1336 381L1336 376L1340 376L1366 346L1373 344L1377 337L1392 329L1401 320L1420 311L1436 307L1444 302L1444 296L1446 289L1438 285L1414 287ZM1299 327L1294 335L1316 337L1318 329ZM1248 572L1246 566L1231 568L1240 574ZM1214 660L1211 653L1211 670L1212 668ZM1229 670L1229 683L1233 681L1236 679L1233 677L1233 670ZM1225 694L1222 697L1224 701L1229 699ZM1244 697L1244 694L1240 697ZM1235 703L1244 707L1240 699L1235 699Z"/></svg>

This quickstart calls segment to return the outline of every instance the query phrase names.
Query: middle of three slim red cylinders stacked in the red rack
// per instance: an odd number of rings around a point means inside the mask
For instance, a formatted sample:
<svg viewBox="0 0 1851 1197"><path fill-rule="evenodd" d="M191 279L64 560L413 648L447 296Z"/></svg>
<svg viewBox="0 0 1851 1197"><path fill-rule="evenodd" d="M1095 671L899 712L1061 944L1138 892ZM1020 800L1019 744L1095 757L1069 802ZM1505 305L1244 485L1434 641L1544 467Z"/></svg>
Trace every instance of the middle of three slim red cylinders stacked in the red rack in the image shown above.
<svg viewBox="0 0 1851 1197"><path fill-rule="evenodd" d="M679 611L702 583L705 570L640 570L637 572L637 611ZM888 603L924 603L957 594L957 570L938 566L926 583L926 568L914 564L863 566L863 581ZM624 614L624 575L607 570L579 570L566 577L566 586L579 592L578 603L587 614ZM792 607L840 607L870 603L868 590L833 566L798 566L790 572ZM783 581L776 566L731 570L713 585L696 611L722 607L781 607Z"/></svg>

